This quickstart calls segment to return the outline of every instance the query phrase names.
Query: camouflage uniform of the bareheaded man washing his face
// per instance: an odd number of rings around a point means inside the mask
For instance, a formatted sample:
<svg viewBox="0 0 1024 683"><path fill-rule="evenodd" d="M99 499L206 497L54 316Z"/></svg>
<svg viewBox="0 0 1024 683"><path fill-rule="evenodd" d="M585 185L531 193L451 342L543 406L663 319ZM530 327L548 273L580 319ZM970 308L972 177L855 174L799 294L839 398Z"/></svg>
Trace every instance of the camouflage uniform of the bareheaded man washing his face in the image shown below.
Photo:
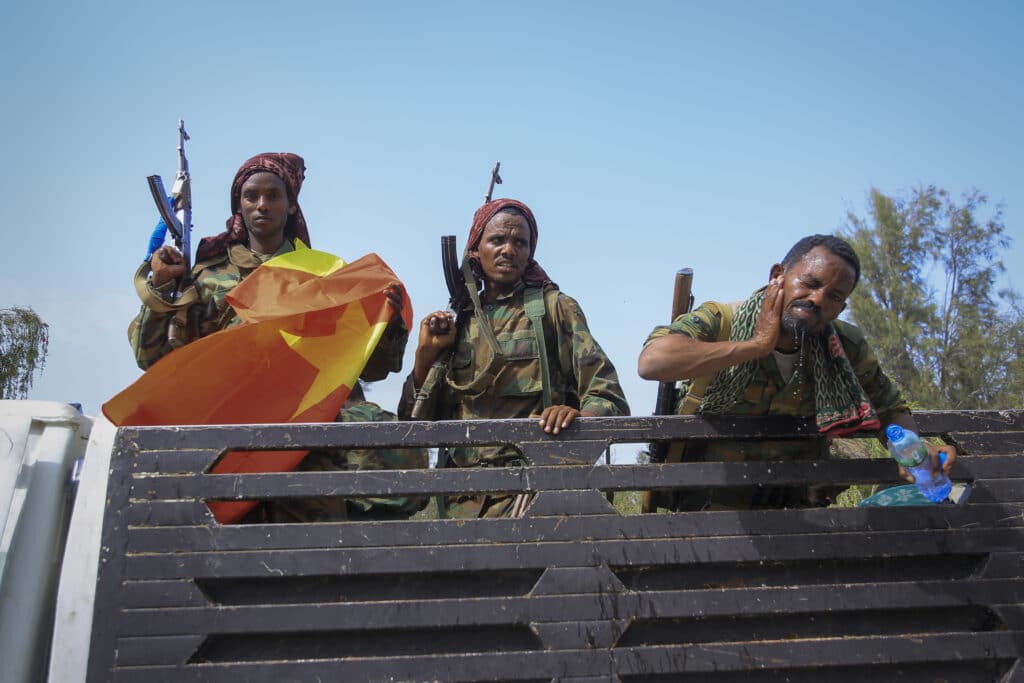
<svg viewBox="0 0 1024 683"><path fill-rule="evenodd" d="M908 413L899 389L893 384L871 352L859 329L843 321L834 321L853 372L863 387L879 415L883 427L900 413ZM672 325L659 326L651 332L644 343L646 347L653 340L669 334L681 334L699 341L717 341L721 321L708 306L677 317ZM813 418L815 414L814 386L808 373L798 367L788 381L783 380L774 354L755 361L754 379L742 399L736 402L729 414L734 415L788 415ZM685 395L685 394L684 394ZM682 397L677 409L682 407ZM790 440L712 440L693 442L686 446L686 460L741 462L750 460L817 460L828 457L830 439L819 436L812 439ZM714 506L728 507L785 507L790 505L814 504L816 492L807 487L759 487L755 490L719 490L708 496L707 501ZM745 504L744 504L745 503ZM693 507L692 501L688 509ZM702 507L697 504L695 507Z"/></svg>

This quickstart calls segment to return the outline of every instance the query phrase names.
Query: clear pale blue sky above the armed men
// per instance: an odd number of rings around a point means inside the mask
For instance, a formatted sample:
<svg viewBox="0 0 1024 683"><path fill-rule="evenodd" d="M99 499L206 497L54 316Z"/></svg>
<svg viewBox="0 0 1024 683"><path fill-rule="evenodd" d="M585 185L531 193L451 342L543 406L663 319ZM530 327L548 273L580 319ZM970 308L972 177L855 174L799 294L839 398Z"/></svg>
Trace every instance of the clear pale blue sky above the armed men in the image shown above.
<svg viewBox="0 0 1024 683"><path fill-rule="evenodd" d="M50 324L31 397L100 403L138 375L131 275L185 120L196 237L223 229L240 163L290 151L313 246L380 254L419 319L443 307L487 173L527 203L537 258L636 374L673 273L746 296L868 188L978 187L1024 289L1018 2L15 3L0 28L0 307ZM413 344L407 356L412 367ZM244 349L241 350L244 352ZM372 397L396 402L401 378Z"/></svg>

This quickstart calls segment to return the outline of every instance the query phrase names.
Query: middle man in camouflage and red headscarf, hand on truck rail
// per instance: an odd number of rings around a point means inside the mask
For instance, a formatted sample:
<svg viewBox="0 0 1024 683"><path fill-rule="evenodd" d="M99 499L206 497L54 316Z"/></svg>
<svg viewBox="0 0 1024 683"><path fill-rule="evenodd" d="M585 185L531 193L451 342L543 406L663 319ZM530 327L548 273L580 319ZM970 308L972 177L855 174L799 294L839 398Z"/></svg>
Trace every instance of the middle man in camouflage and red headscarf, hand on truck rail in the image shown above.
<svg viewBox="0 0 1024 683"><path fill-rule="evenodd" d="M561 293L534 260L537 237L537 220L520 202L495 200L476 211L467 243L471 267L483 285L482 319L472 306L459 311L458 326L447 311L423 319L416 365L398 407L400 419L412 419L421 389L428 395L418 418L427 420L537 417L541 429L557 434L581 415L629 415L615 369L590 334L580 304ZM547 407L539 342L525 304L531 289L542 292L544 300L551 403ZM492 366L494 355L481 325L494 332L505 358L500 368ZM451 355L446 377L425 388L431 366L444 354ZM481 380L482 386L476 386ZM460 447L451 452L449 463L456 467L516 465L520 455L510 446ZM504 516L512 498L452 497L449 514Z"/></svg>

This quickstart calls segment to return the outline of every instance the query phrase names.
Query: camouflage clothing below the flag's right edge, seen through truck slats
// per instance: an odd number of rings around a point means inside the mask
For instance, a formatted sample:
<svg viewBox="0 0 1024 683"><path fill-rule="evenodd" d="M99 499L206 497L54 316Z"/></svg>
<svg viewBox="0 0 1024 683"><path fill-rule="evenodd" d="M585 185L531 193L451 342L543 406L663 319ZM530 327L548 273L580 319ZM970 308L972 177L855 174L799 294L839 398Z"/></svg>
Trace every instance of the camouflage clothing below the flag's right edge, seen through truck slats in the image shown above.
<svg viewBox="0 0 1024 683"><path fill-rule="evenodd" d="M397 417L364 397L356 385L336 422L396 422ZM296 472L332 470L426 469L426 449L337 449L313 451L299 463ZM303 498L267 502L251 512L246 521L317 522L345 519L404 519L422 510L425 496L391 498Z"/></svg>

